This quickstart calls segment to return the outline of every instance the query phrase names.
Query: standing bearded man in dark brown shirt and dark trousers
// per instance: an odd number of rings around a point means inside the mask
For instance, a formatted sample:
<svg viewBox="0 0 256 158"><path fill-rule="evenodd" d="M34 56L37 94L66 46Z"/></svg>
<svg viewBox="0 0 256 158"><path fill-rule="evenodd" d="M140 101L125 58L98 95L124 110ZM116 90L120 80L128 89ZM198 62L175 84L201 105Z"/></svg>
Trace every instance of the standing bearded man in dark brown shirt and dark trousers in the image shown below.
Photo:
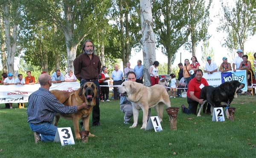
<svg viewBox="0 0 256 158"><path fill-rule="evenodd" d="M97 86L98 95L96 105L93 107L93 126L99 126L99 74L101 73L101 62L99 56L94 54L93 41L86 40L82 47L82 54L74 60L74 73L79 79L80 85L86 82L93 82Z"/></svg>

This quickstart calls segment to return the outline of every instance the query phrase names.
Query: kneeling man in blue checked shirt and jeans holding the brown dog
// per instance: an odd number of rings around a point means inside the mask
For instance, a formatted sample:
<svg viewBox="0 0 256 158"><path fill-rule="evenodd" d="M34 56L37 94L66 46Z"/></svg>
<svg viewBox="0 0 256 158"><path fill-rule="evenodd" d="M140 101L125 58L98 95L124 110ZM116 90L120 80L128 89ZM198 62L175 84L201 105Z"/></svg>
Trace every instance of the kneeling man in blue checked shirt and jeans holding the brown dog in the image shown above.
<svg viewBox="0 0 256 158"><path fill-rule="evenodd" d="M51 77L47 73L39 76L41 87L29 96L27 109L28 123L34 131L35 143L37 141L54 141L57 127L52 124L55 113L77 113L87 108L85 103L67 107L61 104L49 91L52 85ZM39 136L41 134L41 137Z"/></svg>

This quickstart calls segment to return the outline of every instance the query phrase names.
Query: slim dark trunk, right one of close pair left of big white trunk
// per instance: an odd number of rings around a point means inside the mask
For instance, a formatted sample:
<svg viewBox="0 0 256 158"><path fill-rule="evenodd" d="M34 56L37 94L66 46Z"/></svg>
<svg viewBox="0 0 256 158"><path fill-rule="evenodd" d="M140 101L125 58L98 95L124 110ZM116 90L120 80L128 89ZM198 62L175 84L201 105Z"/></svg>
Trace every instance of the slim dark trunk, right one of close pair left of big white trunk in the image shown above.
<svg viewBox="0 0 256 158"><path fill-rule="evenodd" d="M129 42L129 6L128 0L125 0L125 62L129 62L130 59L130 42Z"/></svg>

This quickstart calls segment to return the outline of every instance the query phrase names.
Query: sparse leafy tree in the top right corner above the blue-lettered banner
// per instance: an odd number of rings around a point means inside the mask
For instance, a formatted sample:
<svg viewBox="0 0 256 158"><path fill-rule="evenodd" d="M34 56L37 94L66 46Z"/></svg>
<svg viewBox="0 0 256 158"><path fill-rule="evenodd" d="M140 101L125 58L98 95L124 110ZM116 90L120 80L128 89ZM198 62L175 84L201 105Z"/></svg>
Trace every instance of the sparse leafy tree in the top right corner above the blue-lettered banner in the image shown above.
<svg viewBox="0 0 256 158"><path fill-rule="evenodd" d="M256 1L236 0L235 3L232 8L228 3L221 2L224 17L220 20L221 26L218 28L218 31L227 32L224 45L231 52L238 48L244 51L244 42L248 35L253 35L256 31Z"/></svg>

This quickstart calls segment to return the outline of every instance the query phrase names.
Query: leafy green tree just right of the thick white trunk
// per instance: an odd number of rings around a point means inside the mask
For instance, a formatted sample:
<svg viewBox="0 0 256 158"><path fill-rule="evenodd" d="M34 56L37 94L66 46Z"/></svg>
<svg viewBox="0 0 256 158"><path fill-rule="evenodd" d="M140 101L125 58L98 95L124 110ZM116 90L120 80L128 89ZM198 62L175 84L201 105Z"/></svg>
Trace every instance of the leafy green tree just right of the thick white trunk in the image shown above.
<svg viewBox="0 0 256 158"><path fill-rule="evenodd" d="M177 50L188 40L187 7L185 1L156 0L153 5L157 47L168 56L168 71L170 74ZM163 18L162 18L163 17Z"/></svg>

